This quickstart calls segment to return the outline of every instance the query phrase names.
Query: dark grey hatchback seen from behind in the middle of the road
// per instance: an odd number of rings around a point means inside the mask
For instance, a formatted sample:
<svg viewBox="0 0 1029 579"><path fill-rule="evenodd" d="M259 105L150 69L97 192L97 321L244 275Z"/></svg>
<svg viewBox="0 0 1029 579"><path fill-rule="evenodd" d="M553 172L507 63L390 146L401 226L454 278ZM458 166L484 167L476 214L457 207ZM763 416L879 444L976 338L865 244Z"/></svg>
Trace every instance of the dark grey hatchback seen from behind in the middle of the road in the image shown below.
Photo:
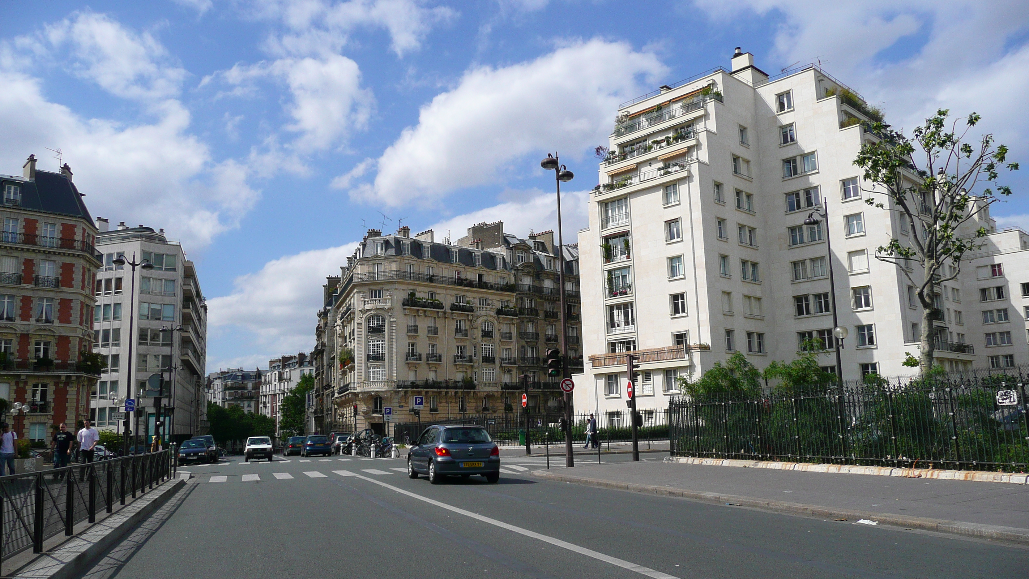
<svg viewBox="0 0 1029 579"><path fill-rule="evenodd" d="M418 478L419 474L428 475L432 484L439 484L450 475L482 475L489 482L497 482L500 448L482 427L429 427L407 453L407 476Z"/></svg>

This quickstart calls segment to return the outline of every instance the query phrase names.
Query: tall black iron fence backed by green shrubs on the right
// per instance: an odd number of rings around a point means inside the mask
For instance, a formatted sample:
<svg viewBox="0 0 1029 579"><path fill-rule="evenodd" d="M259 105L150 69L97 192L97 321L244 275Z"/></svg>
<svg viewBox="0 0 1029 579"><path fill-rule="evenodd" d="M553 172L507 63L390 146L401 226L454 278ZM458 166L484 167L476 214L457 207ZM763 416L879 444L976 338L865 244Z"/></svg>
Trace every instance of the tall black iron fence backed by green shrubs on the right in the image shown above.
<svg viewBox="0 0 1029 579"><path fill-rule="evenodd" d="M941 469L1029 470L1027 368L673 399L673 455Z"/></svg>

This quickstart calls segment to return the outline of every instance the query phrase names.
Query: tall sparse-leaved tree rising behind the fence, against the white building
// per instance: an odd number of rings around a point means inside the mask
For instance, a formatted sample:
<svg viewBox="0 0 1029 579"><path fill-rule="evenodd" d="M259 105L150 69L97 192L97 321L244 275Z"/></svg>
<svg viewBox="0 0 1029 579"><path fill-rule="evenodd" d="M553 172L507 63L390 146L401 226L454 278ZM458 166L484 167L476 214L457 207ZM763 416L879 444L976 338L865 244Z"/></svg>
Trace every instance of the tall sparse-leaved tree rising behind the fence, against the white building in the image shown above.
<svg viewBox="0 0 1029 579"><path fill-rule="evenodd" d="M919 368L923 374L932 367L932 321L939 313L936 287L959 275L965 252L983 246L986 229L969 229L1000 196L1012 194L1010 188L997 182L999 171L1019 168L1018 163L1007 162L1006 146L994 145L993 135L978 141L967 138L979 114L969 114L961 129L960 120L950 122L949 116L949 110L937 110L913 131L912 138L875 123L872 132L882 138L862 145L854 161L874 185L865 190L870 194L865 202L898 212L910 230L902 239L891 237L878 247L876 259L901 266L908 282L917 288L922 304ZM914 162L916 155L924 156L921 166ZM980 185L984 186L977 191ZM903 267L911 262L921 266L922 279Z"/></svg>

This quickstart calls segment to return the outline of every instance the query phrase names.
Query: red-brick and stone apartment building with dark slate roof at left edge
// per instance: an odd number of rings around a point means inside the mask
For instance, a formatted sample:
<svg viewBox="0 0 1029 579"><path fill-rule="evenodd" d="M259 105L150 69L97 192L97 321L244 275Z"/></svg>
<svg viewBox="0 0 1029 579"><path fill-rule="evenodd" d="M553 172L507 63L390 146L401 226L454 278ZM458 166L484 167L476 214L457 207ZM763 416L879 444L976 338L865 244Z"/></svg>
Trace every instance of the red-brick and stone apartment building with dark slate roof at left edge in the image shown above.
<svg viewBox="0 0 1029 579"><path fill-rule="evenodd" d="M80 366L92 349L97 229L65 164L0 175L0 398L19 437L49 443L51 427L90 416L98 373Z"/></svg>

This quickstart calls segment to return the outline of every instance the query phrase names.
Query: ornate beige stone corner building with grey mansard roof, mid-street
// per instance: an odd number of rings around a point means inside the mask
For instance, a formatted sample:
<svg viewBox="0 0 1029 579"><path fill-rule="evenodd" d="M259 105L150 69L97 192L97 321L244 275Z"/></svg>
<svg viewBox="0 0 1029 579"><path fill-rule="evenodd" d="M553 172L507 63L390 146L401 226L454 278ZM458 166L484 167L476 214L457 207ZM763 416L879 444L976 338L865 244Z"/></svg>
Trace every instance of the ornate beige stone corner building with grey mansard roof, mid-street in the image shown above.
<svg viewBox="0 0 1029 579"><path fill-rule="evenodd" d="M513 416L522 374L534 412L560 409L544 360L560 343L559 250L552 232L522 239L499 222L455 243L368 230L324 286L309 428L383 432L383 408L413 421L415 396L423 421ZM564 251L569 355L581 368L577 247Z"/></svg>

